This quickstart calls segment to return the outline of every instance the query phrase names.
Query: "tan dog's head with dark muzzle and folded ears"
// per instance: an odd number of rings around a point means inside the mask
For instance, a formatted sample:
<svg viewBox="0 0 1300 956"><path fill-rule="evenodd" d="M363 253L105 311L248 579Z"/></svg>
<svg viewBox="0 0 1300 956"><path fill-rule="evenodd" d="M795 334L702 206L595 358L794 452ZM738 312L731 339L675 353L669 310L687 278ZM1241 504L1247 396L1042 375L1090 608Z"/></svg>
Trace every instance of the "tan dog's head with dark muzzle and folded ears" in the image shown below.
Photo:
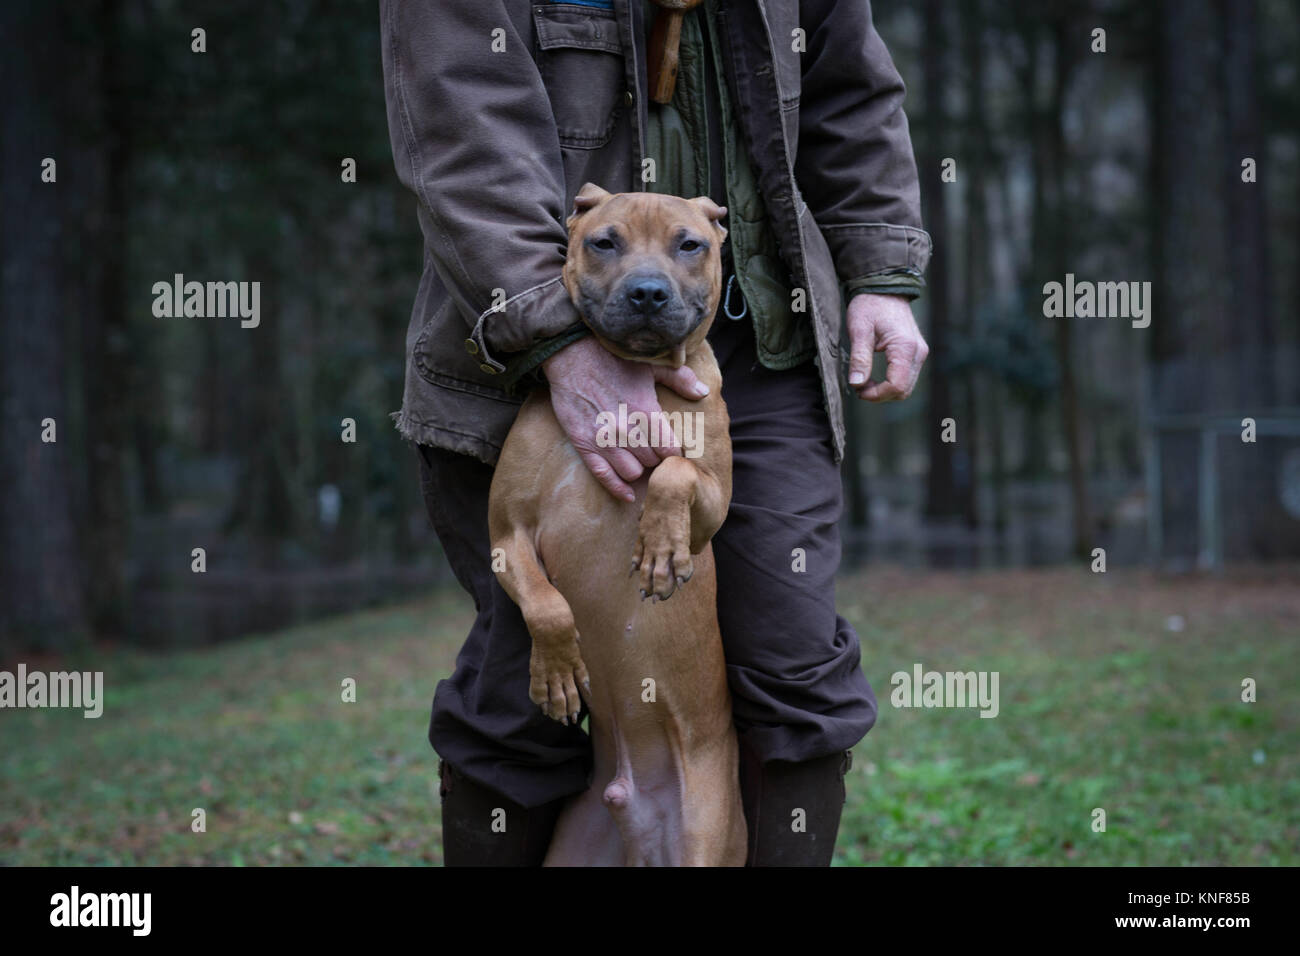
<svg viewBox="0 0 1300 956"><path fill-rule="evenodd" d="M686 360L718 311L725 215L707 196L578 190L564 287L606 349L656 365Z"/></svg>

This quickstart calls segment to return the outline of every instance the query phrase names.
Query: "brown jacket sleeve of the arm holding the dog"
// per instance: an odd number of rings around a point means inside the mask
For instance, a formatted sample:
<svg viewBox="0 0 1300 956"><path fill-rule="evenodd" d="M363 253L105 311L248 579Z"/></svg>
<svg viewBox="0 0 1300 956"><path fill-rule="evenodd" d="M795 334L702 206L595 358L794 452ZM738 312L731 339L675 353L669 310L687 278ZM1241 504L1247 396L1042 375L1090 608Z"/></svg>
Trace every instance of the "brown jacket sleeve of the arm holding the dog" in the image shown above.
<svg viewBox="0 0 1300 956"><path fill-rule="evenodd" d="M564 163L532 38L507 0L382 0L398 177L485 372L580 321L560 282ZM495 51L494 46L499 49Z"/></svg>

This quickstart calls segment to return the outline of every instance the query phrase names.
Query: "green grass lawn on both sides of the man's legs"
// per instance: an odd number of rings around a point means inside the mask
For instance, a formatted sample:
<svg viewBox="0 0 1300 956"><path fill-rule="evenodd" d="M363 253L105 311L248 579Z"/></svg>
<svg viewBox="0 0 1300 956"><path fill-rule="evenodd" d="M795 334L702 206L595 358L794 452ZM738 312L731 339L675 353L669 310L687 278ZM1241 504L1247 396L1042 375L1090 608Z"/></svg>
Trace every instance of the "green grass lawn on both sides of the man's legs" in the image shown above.
<svg viewBox="0 0 1300 956"><path fill-rule="evenodd" d="M878 568L840 605L880 719L837 862L1300 864L1300 570ZM0 864L439 862L428 708L471 611L448 591L211 650L29 661L103 670L104 715L0 711ZM918 662L997 671L998 717L892 706Z"/></svg>

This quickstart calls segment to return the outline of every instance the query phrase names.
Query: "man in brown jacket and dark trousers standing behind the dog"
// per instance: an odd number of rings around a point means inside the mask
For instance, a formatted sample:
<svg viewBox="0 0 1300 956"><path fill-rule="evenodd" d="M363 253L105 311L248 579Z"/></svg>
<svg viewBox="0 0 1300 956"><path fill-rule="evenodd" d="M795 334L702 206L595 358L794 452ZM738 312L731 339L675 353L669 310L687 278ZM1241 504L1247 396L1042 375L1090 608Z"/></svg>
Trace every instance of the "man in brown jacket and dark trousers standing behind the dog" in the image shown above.
<svg viewBox="0 0 1300 956"><path fill-rule="evenodd" d="M393 153L425 237L395 419L477 609L429 727L446 862L536 865L564 799L588 786L586 735L529 701L529 636L488 553L491 464L521 389L545 376L588 467L628 497L676 449L601 447L597 415L658 410L655 382L688 398L702 388L585 334L560 268L566 216L590 181L729 208L710 341L734 470L714 553L749 862L828 865L848 750L876 714L858 637L835 613L841 323L858 398L905 398L927 354L910 299L931 243L902 81L867 0L707 0L685 14L662 105L646 51L668 14L650 0L381 9Z"/></svg>

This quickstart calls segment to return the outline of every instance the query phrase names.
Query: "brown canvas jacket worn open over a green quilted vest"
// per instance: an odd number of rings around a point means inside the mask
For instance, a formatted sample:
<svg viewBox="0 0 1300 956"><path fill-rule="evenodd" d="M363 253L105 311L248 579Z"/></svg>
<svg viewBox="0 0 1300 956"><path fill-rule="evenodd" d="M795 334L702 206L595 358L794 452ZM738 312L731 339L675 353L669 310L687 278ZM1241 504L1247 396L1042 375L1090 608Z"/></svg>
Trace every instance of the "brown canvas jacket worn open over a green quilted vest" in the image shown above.
<svg viewBox="0 0 1300 956"><path fill-rule="evenodd" d="M840 281L930 259L904 83L867 0L708 3L781 256L807 290L838 458ZM424 233L394 418L408 440L495 463L520 402L506 360L580 321L560 284L575 193L644 189L641 3L381 0L381 17L393 157Z"/></svg>

